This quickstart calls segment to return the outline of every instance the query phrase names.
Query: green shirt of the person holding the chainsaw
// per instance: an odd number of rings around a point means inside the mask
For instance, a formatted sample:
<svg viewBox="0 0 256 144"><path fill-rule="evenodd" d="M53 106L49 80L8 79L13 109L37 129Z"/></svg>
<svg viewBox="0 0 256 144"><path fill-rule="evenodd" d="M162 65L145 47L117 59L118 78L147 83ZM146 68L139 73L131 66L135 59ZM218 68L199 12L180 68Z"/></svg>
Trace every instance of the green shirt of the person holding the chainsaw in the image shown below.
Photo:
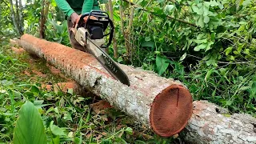
<svg viewBox="0 0 256 144"><path fill-rule="evenodd" d="M90 10L100 10L98 0L55 0L57 6L62 12L70 17L74 12L77 14L85 14Z"/></svg>

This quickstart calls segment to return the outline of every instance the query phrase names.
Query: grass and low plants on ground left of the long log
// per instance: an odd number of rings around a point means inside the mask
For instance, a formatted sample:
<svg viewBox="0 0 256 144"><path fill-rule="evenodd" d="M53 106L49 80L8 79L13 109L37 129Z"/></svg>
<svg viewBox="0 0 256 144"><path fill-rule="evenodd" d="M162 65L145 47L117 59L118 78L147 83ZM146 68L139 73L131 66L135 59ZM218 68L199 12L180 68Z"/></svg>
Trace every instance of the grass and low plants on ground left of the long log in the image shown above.
<svg viewBox="0 0 256 144"><path fill-rule="evenodd" d="M158 137L113 108L95 113L90 104L98 102L97 97L82 97L72 90L63 93L41 89L42 84L66 82L67 79L51 74L42 59L31 58L29 54L13 54L8 42L0 46L0 142L12 142L18 110L27 99L41 114L48 142L179 142L179 138ZM58 126L58 131L50 130L51 124Z"/></svg>

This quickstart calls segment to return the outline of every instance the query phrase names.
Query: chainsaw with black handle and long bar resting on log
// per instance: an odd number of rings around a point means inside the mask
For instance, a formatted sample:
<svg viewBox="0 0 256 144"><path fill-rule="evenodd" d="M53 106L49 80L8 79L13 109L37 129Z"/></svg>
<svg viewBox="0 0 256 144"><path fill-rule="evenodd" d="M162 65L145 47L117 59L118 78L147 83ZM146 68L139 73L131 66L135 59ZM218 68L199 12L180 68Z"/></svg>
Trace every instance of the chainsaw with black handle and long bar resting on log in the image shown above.
<svg viewBox="0 0 256 144"><path fill-rule="evenodd" d="M87 17L86 22L85 17ZM109 25L110 32L105 34ZM114 34L114 24L110 20L109 14L101 10L91 10L90 13L82 14L74 33L78 43L92 54L114 79L130 86L126 73L106 54L106 48L110 46ZM107 36L109 36L109 41L105 45L104 38Z"/></svg>

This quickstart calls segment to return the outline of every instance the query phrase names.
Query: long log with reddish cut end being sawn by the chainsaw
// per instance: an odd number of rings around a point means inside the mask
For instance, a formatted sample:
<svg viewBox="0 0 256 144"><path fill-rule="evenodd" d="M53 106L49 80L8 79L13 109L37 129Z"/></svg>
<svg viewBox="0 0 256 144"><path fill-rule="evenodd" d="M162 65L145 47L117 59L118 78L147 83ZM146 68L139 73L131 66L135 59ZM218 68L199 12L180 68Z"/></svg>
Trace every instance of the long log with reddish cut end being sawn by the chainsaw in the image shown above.
<svg viewBox="0 0 256 144"><path fill-rule="evenodd" d="M179 133L192 114L192 97L181 82L149 71L119 65L130 78L130 86L114 80L90 54L47 42L29 34L18 41L31 54L45 58L84 89L110 102L162 137Z"/></svg>

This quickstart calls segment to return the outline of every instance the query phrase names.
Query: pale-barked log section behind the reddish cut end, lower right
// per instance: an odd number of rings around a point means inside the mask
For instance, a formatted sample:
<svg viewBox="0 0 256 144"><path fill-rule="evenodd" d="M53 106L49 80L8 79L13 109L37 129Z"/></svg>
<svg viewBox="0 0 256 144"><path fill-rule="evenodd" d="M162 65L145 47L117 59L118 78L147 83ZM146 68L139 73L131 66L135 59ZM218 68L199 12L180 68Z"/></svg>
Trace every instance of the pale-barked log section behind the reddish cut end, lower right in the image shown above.
<svg viewBox="0 0 256 144"><path fill-rule="evenodd" d="M193 102L194 110L182 130L189 143L256 143L256 118L228 114L228 110L206 101Z"/></svg>

